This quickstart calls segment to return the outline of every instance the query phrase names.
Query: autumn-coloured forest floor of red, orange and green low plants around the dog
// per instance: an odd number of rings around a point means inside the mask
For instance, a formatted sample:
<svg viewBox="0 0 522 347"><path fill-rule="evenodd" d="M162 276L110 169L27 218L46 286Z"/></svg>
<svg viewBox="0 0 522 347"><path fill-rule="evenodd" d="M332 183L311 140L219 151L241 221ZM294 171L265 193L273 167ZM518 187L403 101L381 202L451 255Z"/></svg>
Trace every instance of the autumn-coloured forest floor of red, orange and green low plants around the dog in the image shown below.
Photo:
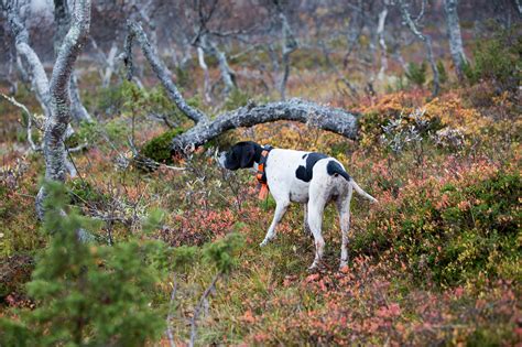
<svg viewBox="0 0 522 347"><path fill-rule="evenodd" d="M148 116L157 108L174 115L182 128L187 121L161 87L96 90L83 79L83 97L98 121L77 127L70 147L84 140L88 147L73 154L78 176L67 187L85 215L113 220L100 229L100 242L152 238L172 247L199 247L231 231L241 234L246 243L236 267L217 282L199 319L204 345L520 344L518 96L486 83L447 82L437 98L427 89L383 87L378 96L356 102L328 73L298 75L289 95L360 112L357 141L301 123L268 123L231 131L189 156L170 158L171 167L153 172L127 165L127 139L142 148L168 131ZM195 82L199 77L192 76ZM198 105L213 115L232 109L255 89L242 90L217 107ZM264 99L270 98L275 96ZM17 99L35 109L23 88ZM21 113L3 101L0 108L0 315L10 316L35 305L24 284L48 236L39 231L34 214L42 155L28 152ZM314 242L304 232L300 205L291 206L276 239L259 247L274 202L258 199L252 172L225 172L214 156L217 147L238 140L333 155L379 200L352 200L348 268L338 270L340 230L331 206L324 218L323 270L307 271ZM154 145L152 151L164 150ZM162 226L144 234L140 220L154 208L165 212ZM188 339L194 307L214 275L199 260L176 274L168 324L178 344ZM153 305L165 317L172 286L165 278L154 295ZM167 345L166 336L160 343Z"/></svg>

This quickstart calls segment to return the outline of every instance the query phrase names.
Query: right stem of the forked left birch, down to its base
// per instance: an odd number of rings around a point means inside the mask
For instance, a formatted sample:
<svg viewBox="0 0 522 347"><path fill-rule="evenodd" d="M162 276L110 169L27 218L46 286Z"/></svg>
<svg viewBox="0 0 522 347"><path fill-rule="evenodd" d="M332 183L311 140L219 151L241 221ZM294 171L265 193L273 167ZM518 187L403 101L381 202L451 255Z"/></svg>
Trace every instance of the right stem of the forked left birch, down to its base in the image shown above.
<svg viewBox="0 0 522 347"><path fill-rule="evenodd" d="M45 156L45 178L65 182L66 150L65 134L70 122L68 84L74 63L81 52L90 28L90 0L78 0L73 12L73 23L59 48L50 84L51 116L45 119L43 152ZM43 217L46 192L40 188L36 210Z"/></svg>

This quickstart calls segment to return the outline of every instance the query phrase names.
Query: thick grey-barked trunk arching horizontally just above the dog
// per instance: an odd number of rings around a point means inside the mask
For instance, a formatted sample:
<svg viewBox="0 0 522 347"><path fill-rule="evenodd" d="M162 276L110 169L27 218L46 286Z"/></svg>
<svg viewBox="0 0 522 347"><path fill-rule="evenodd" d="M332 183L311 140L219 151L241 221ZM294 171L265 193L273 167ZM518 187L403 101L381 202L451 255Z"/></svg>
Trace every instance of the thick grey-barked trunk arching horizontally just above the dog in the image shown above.
<svg viewBox="0 0 522 347"><path fill-rule="evenodd" d="M191 147L202 145L227 130L276 120L298 121L314 128L333 131L349 139L356 139L358 131L357 118L357 113L301 99L259 106L249 104L237 110L221 113L216 119L197 124L177 135L174 138L172 147L174 151L185 151Z"/></svg>

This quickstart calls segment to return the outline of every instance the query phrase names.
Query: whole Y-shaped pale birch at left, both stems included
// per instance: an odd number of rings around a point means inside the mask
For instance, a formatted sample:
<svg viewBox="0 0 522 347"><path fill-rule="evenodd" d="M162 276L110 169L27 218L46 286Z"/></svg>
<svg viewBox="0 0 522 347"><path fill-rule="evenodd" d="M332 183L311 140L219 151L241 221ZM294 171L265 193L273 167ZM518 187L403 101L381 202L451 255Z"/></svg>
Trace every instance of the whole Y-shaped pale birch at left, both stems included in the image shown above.
<svg viewBox="0 0 522 347"><path fill-rule="evenodd" d="M39 56L29 44L29 34L20 21L18 7L11 1L2 0L2 8L15 39L17 51L29 66L36 96L44 108L45 178L65 182L67 151L64 141L72 119L68 86L73 65L89 32L90 0L78 0L75 3L73 21L58 50L51 82L45 75ZM44 187L41 187L36 197L36 212L40 217L43 217L45 195Z"/></svg>

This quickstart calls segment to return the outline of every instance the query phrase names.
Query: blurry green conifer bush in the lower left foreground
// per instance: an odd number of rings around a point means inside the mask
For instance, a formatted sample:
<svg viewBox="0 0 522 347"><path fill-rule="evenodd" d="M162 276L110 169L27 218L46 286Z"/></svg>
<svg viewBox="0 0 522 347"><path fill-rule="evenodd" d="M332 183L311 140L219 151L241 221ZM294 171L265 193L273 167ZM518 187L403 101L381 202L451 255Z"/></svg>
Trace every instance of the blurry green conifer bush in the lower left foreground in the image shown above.
<svg viewBox="0 0 522 347"><path fill-rule="evenodd" d="M36 303L20 322L0 319L2 346L142 346L164 328L151 293L162 275L154 264L167 257L159 242L115 247L78 241L76 230L96 224L66 210L67 195L47 184L44 230L51 235L28 292Z"/></svg>

